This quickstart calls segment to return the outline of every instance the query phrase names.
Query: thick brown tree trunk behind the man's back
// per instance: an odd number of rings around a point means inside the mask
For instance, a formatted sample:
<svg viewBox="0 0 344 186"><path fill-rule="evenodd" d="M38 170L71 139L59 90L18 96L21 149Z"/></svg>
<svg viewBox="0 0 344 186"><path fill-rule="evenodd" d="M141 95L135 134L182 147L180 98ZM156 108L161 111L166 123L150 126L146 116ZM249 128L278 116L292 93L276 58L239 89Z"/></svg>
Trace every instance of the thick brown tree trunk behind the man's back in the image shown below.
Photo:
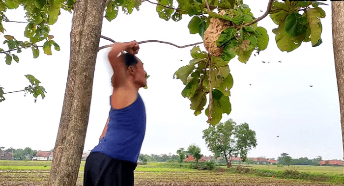
<svg viewBox="0 0 344 186"><path fill-rule="evenodd" d="M106 0L77 0L70 34L70 60L49 186L75 186L84 150Z"/></svg>

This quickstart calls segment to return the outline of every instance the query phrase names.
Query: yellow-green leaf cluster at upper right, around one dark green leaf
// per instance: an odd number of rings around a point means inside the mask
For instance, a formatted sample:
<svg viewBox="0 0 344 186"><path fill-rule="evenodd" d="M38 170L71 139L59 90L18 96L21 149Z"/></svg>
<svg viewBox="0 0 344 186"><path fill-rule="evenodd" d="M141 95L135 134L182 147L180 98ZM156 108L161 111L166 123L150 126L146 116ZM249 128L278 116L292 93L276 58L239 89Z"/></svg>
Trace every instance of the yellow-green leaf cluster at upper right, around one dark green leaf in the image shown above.
<svg viewBox="0 0 344 186"><path fill-rule="evenodd" d="M291 52L297 49L302 42L311 41L316 47L322 43L320 38L322 25L320 18L325 12L318 7L317 1L274 1L270 18L278 25L273 29L275 39L281 51ZM299 12L303 11L302 14Z"/></svg>

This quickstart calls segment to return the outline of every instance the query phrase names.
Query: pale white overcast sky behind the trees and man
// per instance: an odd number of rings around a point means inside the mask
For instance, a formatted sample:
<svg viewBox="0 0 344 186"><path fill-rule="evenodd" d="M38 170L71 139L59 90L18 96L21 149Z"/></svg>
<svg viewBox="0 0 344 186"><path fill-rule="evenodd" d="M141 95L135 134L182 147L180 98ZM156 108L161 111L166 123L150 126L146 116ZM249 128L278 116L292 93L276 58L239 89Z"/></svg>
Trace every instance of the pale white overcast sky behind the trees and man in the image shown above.
<svg viewBox="0 0 344 186"><path fill-rule="evenodd" d="M244 2L255 17L263 14L260 10L265 12L267 0ZM221 122L232 118L238 124L248 123L256 131L258 146L248 157L277 158L281 153L288 153L292 158L343 159L328 3L321 6L326 18L321 20L323 43L320 46L312 47L309 42L293 52L281 52L271 31L277 26L266 17L258 26L268 30L268 48L257 56L252 55L247 64L239 62L237 57L229 62L234 79L229 98L232 111L224 114ZM155 7L143 2L140 11L134 10L131 15L119 12L111 23L104 20L102 35L119 42L161 40L179 46L201 41L198 34L189 33L188 15L179 22L166 22L158 17ZM8 13L10 20L25 21L21 7ZM47 56L40 50L40 56L33 59L28 49L18 54L19 63L6 65L4 59L0 61L0 86L4 92L28 86L29 80L24 77L27 74L40 80L47 91L46 98L39 97L36 103L32 95L24 97L23 92L4 95L6 100L0 103L0 146L54 148L68 73L71 18L72 14L62 11L57 23L51 26L51 34L61 51L53 49L53 55ZM5 34L24 40L26 24L3 22L3 26L7 30ZM101 39L100 46L108 44L111 42ZM204 50L202 44L200 47ZM7 46L1 48L6 50ZM139 91L147 116L141 153L176 154L179 148L196 143L203 155L211 155L202 139L202 131L208 127L207 117L204 112L193 115L190 101L181 96L184 85L181 80L172 79L173 73L192 59L192 47L178 49L167 44L146 43L140 48L137 56L150 75L148 89ZM109 49L101 50L97 56L85 151L97 145L109 114L112 70L106 57L108 52Z"/></svg>

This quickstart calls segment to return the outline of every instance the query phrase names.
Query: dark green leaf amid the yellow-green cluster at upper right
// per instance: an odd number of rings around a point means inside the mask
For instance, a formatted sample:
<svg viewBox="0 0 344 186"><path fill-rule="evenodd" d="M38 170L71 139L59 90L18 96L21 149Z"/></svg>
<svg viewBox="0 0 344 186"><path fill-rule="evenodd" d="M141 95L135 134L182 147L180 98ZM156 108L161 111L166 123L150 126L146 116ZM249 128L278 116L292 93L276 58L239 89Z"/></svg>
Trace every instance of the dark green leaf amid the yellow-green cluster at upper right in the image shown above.
<svg viewBox="0 0 344 186"><path fill-rule="evenodd" d="M292 12L285 21L285 31L291 37L301 35L307 30L307 17L303 17L301 14Z"/></svg>

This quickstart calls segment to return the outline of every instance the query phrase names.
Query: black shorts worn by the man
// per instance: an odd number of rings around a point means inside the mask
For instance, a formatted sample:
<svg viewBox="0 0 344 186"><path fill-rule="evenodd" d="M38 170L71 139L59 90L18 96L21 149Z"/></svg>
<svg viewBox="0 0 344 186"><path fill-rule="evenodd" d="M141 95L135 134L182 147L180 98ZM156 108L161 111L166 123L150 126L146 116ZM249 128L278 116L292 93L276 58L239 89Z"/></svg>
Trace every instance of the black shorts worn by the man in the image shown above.
<svg viewBox="0 0 344 186"><path fill-rule="evenodd" d="M84 186L134 186L136 163L92 152L85 163Z"/></svg>

